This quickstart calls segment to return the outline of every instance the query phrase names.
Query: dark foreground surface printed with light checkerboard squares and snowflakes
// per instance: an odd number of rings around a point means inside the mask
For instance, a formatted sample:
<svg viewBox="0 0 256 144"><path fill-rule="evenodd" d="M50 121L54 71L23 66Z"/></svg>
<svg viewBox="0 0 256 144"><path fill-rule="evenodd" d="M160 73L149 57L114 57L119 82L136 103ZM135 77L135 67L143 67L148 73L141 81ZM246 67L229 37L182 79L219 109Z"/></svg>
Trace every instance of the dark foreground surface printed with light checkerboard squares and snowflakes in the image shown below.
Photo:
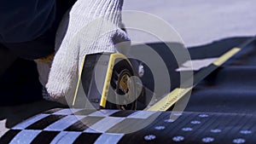
<svg viewBox="0 0 256 144"><path fill-rule="evenodd" d="M53 109L17 124L0 143L255 143L256 116L220 112ZM149 121L149 123L148 123ZM150 122L151 121L151 122ZM125 131L145 127L128 134Z"/></svg>

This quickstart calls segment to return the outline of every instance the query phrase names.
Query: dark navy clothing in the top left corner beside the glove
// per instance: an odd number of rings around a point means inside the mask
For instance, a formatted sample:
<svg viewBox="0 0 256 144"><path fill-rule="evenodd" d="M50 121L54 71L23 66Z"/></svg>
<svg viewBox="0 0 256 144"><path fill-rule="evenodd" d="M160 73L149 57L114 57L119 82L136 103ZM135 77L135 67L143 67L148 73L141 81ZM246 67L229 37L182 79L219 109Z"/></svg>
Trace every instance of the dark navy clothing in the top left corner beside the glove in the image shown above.
<svg viewBox="0 0 256 144"><path fill-rule="evenodd" d="M62 15L76 0L5 0L0 4L0 43L34 60L54 53Z"/></svg>

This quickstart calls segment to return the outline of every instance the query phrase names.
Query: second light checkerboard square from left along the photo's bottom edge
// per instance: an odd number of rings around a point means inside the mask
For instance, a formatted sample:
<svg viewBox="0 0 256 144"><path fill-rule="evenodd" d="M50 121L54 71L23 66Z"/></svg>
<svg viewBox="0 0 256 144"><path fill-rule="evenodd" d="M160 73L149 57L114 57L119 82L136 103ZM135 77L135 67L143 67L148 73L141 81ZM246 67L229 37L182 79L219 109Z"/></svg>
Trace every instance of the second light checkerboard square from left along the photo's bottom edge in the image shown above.
<svg viewBox="0 0 256 144"><path fill-rule="evenodd" d="M82 132L61 131L60 134L55 136L55 139L53 139L50 144L73 143L81 134Z"/></svg>

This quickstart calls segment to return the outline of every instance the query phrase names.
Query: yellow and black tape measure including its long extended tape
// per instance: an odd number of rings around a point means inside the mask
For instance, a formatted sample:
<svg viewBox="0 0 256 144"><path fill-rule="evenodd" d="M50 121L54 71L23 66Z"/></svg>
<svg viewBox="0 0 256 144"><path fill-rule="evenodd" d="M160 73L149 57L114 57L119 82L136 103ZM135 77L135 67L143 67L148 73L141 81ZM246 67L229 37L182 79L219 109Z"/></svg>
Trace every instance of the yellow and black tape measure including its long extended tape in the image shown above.
<svg viewBox="0 0 256 144"><path fill-rule="evenodd" d="M213 61L211 65L196 72L193 76L193 84L184 82L180 88L172 90L150 107L147 106L154 92L145 88L140 82L137 71L138 64L134 62L136 60L128 59L119 53L86 55L73 98L73 107L135 110L138 106L137 103L140 103L143 104L143 108L138 109L142 110L170 110L177 101L188 95L202 79L230 60L241 49L255 43L255 38L242 43L240 47L230 49ZM190 80L188 81L190 82Z"/></svg>

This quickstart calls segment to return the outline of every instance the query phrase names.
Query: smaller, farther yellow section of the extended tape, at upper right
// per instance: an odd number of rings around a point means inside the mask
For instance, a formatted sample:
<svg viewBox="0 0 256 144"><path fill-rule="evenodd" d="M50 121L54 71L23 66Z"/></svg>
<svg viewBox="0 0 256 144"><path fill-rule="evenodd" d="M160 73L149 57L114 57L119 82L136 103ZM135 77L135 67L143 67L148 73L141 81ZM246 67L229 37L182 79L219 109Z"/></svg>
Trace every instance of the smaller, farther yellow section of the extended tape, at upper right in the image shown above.
<svg viewBox="0 0 256 144"><path fill-rule="evenodd" d="M241 50L241 48L233 48L226 52L224 55L220 56L217 60L213 61L213 65L221 66L225 61L229 60L230 57L236 55Z"/></svg>

